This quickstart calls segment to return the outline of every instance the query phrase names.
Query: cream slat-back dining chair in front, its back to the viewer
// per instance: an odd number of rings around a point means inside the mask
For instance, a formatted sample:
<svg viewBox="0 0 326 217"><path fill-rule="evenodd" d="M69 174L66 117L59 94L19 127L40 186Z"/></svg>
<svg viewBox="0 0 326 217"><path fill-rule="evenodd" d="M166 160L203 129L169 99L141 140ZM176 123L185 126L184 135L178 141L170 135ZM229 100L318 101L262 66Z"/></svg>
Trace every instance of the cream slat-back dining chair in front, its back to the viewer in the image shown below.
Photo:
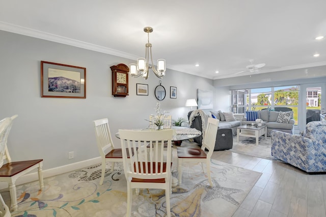
<svg viewBox="0 0 326 217"><path fill-rule="evenodd" d="M131 214L132 189L136 188L158 188L165 189L167 216L171 216L170 194L171 188L171 141L173 130L119 130L124 173L127 180L127 214ZM164 151L164 141L168 146ZM144 144L150 144L146 149L148 157L144 157L142 152L137 152ZM135 153L132 157L129 155ZM161 154L160 154L161 153Z"/></svg>

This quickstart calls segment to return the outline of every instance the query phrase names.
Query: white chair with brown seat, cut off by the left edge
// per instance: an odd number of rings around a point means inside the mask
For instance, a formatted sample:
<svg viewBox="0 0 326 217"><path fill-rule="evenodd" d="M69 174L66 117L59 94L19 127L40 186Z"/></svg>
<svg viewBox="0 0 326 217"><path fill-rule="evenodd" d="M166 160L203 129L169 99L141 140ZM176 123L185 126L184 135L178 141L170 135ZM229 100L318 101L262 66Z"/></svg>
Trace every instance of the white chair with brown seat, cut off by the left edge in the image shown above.
<svg viewBox="0 0 326 217"><path fill-rule="evenodd" d="M19 177L34 169L38 169L40 189L42 190L44 187L42 176L43 159L12 161L9 155L7 139L12 127L12 121L17 116L18 115L14 115L0 121L0 181L9 183L11 211L16 211L18 208L15 182ZM4 164L4 160L7 161L7 164Z"/></svg>

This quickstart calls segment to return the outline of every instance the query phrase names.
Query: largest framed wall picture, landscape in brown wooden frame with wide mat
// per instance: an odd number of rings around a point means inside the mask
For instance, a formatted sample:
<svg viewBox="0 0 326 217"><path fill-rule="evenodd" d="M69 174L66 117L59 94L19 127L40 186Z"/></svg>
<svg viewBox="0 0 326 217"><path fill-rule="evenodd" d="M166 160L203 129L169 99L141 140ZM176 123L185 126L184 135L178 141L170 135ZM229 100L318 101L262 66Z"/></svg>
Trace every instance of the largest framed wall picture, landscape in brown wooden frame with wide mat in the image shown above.
<svg viewBox="0 0 326 217"><path fill-rule="evenodd" d="M86 68L41 61L41 97L86 98Z"/></svg>

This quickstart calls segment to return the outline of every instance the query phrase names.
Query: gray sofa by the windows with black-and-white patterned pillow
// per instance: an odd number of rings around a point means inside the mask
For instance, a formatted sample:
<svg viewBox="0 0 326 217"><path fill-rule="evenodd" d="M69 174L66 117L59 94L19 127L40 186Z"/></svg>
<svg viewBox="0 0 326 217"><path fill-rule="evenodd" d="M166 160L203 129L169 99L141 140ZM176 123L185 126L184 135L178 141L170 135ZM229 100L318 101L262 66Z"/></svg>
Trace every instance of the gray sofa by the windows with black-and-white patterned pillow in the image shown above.
<svg viewBox="0 0 326 217"><path fill-rule="evenodd" d="M277 118L280 112L277 111L268 111L268 110L261 110L258 112L258 118L262 119L264 124L267 126L267 137L270 137L271 130L278 130L282 132L287 132L294 134L294 119L293 115L288 123L280 123L277 122ZM255 123L255 121L247 121L247 118L243 118L241 121L242 125Z"/></svg>

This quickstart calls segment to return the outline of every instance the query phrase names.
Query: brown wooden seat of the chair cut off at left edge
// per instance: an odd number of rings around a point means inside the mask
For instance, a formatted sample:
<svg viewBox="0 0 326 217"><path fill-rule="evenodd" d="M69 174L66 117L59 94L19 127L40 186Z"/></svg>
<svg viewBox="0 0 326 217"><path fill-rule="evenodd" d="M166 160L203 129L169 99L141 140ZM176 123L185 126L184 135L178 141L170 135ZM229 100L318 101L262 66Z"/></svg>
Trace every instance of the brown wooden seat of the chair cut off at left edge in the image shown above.
<svg viewBox="0 0 326 217"><path fill-rule="evenodd" d="M33 167L34 165L37 165L41 161L43 161L43 159L24 160L7 163L0 168L0 177L14 176L26 169L29 169L30 167Z"/></svg>

